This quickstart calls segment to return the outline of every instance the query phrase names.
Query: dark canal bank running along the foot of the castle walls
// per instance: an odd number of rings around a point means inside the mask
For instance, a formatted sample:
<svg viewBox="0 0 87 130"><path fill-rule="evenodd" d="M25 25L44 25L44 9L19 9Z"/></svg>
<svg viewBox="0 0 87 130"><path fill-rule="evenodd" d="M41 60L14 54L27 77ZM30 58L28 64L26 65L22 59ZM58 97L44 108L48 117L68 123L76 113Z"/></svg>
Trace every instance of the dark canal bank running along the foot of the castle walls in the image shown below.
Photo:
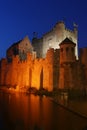
<svg viewBox="0 0 87 130"><path fill-rule="evenodd" d="M12 94L12 93L25 93L27 95L31 94L29 92L26 92L25 90L20 90L17 91L14 88L6 88L3 87L0 89L3 92L6 92L8 94ZM74 100L70 100L68 99L67 95L57 95L57 96L53 96L52 93L48 93L46 91L37 91L35 93L32 93L34 95L38 95L38 96L46 96L49 97L49 99L51 101L53 101L54 103L56 103L57 105L59 105L60 107L72 112L73 114L76 114L82 118L87 119L87 100L86 99L74 99Z"/></svg>

